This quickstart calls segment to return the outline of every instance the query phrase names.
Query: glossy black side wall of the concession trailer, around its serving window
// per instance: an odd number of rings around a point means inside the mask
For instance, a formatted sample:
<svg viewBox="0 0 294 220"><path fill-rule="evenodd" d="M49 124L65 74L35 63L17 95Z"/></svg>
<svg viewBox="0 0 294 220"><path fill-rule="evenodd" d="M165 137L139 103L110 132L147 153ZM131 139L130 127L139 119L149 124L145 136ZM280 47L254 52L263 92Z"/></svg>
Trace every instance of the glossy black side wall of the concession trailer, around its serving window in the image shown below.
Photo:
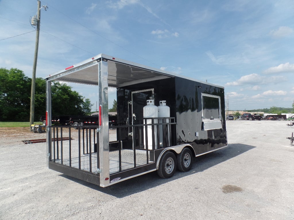
<svg viewBox="0 0 294 220"><path fill-rule="evenodd" d="M226 146L224 89L180 77L175 79L177 145L191 144L196 155ZM201 94L220 97L222 128L203 130Z"/></svg>

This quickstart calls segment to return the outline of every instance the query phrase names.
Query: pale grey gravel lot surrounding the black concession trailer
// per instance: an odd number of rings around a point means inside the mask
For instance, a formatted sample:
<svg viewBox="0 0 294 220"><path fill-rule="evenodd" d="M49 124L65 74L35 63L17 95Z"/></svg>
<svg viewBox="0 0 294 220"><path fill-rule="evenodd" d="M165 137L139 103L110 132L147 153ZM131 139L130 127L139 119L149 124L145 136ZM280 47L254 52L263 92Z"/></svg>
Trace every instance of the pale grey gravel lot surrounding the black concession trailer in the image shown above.
<svg viewBox="0 0 294 220"><path fill-rule="evenodd" d="M294 219L294 128L227 121L228 147L189 172L156 172L101 188L46 167L46 138L0 129L0 219Z"/></svg>

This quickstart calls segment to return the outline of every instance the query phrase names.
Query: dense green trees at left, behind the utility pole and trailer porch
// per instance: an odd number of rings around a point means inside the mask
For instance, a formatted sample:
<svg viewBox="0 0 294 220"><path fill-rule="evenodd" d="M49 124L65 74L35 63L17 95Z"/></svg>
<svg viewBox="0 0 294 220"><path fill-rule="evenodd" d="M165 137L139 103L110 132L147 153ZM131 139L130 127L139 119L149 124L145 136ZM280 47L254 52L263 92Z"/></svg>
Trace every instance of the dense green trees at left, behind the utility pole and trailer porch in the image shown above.
<svg viewBox="0 0 294 220"><path fill-rule="evenodd" d="M31 82L19 69L0 68L0 121L29 121ZM52 115L88 115L90 99L86 99L65 83L51 84ZM36 78L34 121L46 112L46 81Z"/></svg>

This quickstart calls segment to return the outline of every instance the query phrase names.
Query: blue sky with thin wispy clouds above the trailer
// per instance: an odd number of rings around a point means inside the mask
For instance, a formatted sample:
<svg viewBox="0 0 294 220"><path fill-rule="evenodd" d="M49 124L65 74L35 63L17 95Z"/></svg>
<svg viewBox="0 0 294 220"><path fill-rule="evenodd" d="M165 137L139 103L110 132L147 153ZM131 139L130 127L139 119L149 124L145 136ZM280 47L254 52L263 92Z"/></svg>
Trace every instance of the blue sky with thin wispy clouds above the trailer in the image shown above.
<svg viewBox="0 0 294 220"><path fill-rule="evenodd" d="M103 53L224 86L229 110L292 107L293 0L41 1L46 5L36 77ZM32 77L36 13L35 0L0 0L0 68ZM93 87L69 86L96 109Z"/></svg>

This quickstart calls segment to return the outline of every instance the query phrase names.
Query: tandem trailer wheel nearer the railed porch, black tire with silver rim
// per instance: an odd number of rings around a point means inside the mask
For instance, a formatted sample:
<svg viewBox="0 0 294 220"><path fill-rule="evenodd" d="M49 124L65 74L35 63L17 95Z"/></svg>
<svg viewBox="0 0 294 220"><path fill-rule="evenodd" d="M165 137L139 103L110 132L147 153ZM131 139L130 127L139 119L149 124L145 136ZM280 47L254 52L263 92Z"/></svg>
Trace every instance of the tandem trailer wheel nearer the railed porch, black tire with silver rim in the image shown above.
<svg viewBox="0 0 294 220"><path fill-rule="evenodd" d="M170 178L176 172L176 168L176 156L172 152L166 152L160 159L157 173L161 178Z"/></svg>

